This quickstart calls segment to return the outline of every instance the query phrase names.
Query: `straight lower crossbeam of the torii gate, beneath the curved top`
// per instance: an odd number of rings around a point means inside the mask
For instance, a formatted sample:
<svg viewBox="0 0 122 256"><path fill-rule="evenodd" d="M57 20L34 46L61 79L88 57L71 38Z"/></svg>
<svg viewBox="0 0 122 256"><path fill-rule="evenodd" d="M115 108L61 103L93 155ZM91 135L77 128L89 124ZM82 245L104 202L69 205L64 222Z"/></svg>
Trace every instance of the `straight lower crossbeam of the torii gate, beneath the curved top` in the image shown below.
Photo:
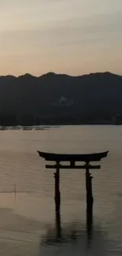
<svg viewBox="0 0 122 256"><path fill-rule="evenodd" d="M57 165L46 165L46 169L56 169ZM59 169L86 169L86 165L59 165ZM89 169L101 169L101 165L89 165Z"/></svg>

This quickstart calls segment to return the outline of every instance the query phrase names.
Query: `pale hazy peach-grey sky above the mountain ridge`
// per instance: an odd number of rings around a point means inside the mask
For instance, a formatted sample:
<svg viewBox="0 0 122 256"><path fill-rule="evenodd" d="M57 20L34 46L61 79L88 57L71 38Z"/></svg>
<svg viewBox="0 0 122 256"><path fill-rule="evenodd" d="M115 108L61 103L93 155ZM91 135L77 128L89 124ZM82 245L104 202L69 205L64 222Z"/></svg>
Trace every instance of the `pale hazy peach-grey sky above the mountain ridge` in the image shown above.
<svg viewBox="0 0 122 256"><path fill-rule="evenodd" d="M0 0L0 75L122 75L122 0Z"/></svg>

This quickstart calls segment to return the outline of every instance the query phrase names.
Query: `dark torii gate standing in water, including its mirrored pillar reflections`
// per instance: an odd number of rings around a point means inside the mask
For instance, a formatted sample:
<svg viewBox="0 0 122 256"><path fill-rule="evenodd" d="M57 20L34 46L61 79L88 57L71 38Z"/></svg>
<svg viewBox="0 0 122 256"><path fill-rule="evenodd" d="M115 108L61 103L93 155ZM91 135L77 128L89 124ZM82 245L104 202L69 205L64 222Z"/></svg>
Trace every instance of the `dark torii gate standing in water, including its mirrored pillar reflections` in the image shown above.
<svg viewBox="0 0 122 256"><path fill-rule="evenodd" d="M87 191L87 232L91 233L92 226L92 208L93 208L93 195L92 195L92 176L89 172L90 169L101 169L101 165L91 165L91 161L101 161L102 158L107 157L109 151L96 153L96 154L51 154L38 151L39 156L45 158L46 161L54 161L55 165L46 165L46 169L56 169L54 173L55 179L55 207L56 207L56 221L57 229L60 226L60 169L86 169L86 191ZM61 165L61 161L69 162L70 165ZM76 165L76 162L83 161L85 165Z"/></svg>

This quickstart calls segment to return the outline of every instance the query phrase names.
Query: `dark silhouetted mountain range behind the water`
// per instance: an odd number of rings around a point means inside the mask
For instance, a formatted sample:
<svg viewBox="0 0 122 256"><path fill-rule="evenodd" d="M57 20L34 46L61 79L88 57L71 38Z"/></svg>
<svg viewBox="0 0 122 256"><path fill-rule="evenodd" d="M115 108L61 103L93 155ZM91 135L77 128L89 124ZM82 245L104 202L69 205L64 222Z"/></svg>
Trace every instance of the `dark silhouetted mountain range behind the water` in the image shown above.
<svg viewBox="0 0 122 256"><path fill-rule="evenodd" d="M122 76L0 76L0 116L36 123L85 123L122 113ZM36 121L34 121L36 120Z"/></svg>

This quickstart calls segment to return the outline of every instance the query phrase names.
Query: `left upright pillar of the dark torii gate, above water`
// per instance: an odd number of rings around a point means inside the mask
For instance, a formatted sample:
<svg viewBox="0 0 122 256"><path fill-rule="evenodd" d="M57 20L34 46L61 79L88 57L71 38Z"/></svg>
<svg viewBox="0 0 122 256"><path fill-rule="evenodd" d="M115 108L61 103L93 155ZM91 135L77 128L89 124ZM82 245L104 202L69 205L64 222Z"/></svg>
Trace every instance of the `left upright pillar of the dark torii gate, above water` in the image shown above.
<svg viewBox="0 0 122 256"><path fill-rule="evenodd" d="M54 179L55 179L55 207L56 207L56 213L60 212L60 205L61 205L61 195L60 195L60 162L57 161L56 166L56 173L54 173Z"/></svg>

